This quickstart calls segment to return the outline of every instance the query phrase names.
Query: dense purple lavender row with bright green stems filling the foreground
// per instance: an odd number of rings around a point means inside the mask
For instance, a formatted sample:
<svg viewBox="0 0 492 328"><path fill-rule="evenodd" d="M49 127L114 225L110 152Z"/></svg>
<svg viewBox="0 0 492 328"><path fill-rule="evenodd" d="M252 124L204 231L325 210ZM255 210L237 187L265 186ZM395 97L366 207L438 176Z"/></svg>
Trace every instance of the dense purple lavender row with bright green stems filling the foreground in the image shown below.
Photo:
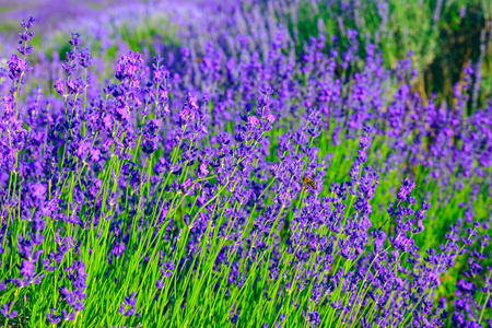
<svg viewBox="0 0 492 328"><path fill-rule="evenodd" d="M126 54L107 81L72 34L52 93L32 84L22 23L1 72L0 319L492 325L476 72L438 104L412 90L412 54L388 70L372 44L358 57L356 31L342 51L323 26L297 54L274 19L289 8L239 9L184 24L152 62Z"/></svg>

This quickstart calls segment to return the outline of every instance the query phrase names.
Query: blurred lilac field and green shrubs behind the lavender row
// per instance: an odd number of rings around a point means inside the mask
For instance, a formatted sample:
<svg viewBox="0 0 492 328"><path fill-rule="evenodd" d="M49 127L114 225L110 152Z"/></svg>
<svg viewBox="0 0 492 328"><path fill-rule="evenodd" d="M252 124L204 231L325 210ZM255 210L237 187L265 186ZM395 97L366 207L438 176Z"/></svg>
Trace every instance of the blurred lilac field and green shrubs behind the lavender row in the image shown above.
<svg viewBox="0 0 492 328"><path fill-rule="evenodd" d="M36 50L32 61L39 57L52 60L54 54L63 60L70 32L80 32L94 56L104 56L109 63L128 49L154 56L162 55L156 52L162 51L163 45L164 48L165 45L187 46L178 31L199 21L204 12L221 12L225 2L0 0L0 65L4 66L13 54L19 23L28 16L36 19L36 37L32 42ZM242 2L247 11L253 3L268 5L269 1ZM278 23L288 25L298 54L309 36L318 36L320 31L329 37L337 36L341 49L347 48L348 31L353 28L359 32L360 58L365 56L365 44L373 43L383 51L384 65L395 69L398 60L412 51L412 65L419 72L413 87L424 99L432 96L438 102L449 102L454 85L464 78L462 69L472 68L475 84L479 85L470 99L473 106L469 108L487 106L485 98L492 92L490 0L284 0L276 3L283 5L277 12ZM328 42L327 51L329 46Z"/></svg>

